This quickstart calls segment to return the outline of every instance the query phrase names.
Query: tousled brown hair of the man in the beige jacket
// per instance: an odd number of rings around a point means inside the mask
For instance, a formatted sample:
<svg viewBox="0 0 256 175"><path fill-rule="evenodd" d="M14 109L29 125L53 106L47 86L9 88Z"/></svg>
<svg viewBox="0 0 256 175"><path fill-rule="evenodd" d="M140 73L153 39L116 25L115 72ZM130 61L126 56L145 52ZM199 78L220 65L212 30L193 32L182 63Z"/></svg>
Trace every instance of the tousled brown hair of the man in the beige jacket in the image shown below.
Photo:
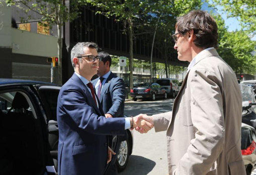
<svg viewBox="0 0 256 175"><path fill-rule="evenodd" d="M218 27L215 20L205 11L191 11L177 18L175 29L181 35L194 30L194 44L199 48L218 48Z"/></svg>

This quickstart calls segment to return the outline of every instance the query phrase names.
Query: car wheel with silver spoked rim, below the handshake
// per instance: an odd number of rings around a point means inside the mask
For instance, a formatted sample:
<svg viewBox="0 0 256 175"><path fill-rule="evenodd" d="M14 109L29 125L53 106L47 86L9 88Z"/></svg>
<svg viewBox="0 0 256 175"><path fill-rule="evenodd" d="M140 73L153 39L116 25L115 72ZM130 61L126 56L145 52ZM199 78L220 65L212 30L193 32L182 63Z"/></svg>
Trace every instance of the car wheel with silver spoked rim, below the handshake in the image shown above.
<svg viewBox="0 0 256 175"><path fill-rule="evenodd" d="M117 159L115 162L118 172L121 172L125 169L130 156L129 150L130 150L130 144L127 138L127 140L124 140L121 142Z"/></svg>

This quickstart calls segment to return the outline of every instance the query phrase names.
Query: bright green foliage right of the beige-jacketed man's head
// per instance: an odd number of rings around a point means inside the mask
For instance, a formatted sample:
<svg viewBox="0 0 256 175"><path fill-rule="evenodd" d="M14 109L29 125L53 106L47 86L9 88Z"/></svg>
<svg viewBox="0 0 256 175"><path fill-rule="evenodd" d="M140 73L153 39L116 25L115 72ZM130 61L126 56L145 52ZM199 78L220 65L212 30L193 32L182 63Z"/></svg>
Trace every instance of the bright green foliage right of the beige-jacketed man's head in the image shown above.
<svg viewBox="0 0 256 175"><path fill-rule="evenodd" d="M250 40L248 31L228 32L224 20L214 16L218 25L219 55L238 73L256 74L256 57L251 54L255 51L256 42Z"/></svg>

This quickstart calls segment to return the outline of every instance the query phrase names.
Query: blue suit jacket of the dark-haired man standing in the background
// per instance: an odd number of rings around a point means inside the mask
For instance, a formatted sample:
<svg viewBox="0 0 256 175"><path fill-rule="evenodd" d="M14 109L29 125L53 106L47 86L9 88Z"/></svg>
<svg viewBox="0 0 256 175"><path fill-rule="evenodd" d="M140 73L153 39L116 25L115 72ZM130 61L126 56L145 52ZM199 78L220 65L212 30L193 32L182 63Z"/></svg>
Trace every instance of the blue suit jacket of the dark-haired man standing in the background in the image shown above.
<svg viewBox="0 0 256 175"><path fill-rule="evenodd" d="M94 86L98 80L99 78L92 81ZM120 77L110 72L100 94L99 101L105 114L113 117L124 116L125 85Z"/></svg>

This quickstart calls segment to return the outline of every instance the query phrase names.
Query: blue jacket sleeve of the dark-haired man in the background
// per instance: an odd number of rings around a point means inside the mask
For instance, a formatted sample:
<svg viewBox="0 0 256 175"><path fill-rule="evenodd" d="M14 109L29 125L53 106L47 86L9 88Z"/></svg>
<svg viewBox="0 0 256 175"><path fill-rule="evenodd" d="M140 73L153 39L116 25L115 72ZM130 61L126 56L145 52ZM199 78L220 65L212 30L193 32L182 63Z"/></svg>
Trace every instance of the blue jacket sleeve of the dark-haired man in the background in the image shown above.
<svg viewBox="0 0 256 175"><path fill-rule="evenodd" d="M106 112L113 117L119 117L124 110L125 85L121 78L118 78L112 87L112 106ZM123 117L123 116L120 116Z"/></svg>

